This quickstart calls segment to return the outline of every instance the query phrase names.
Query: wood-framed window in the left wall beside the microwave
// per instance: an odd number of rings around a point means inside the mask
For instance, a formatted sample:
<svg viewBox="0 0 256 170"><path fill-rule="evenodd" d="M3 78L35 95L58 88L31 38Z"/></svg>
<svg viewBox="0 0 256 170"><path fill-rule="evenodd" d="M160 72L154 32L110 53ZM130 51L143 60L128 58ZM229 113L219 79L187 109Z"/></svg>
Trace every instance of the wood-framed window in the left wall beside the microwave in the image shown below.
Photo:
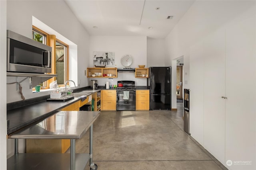
<svg viewBox="0 0 256 170"><path fill-rule="evenodd" d="M55 35L49 35L35 26L32 27L32 38L35 41L52 47L51 74L58 75L58 77L51 78L40 84L41 88L50 88L50 83L54 80L57 80L59 86L64 86L66 80L68 80L68 45L56 39Z"/></svg>

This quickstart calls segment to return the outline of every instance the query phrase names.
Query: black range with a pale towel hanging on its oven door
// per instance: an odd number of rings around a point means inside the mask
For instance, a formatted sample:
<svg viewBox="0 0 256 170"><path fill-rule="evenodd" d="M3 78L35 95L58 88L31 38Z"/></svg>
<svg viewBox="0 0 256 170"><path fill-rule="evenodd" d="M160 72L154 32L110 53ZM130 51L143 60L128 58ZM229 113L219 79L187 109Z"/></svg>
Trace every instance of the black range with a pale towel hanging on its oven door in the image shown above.
<svg viewBox="0 0 256 170"><path fill-rule="evenodd" d="M118 81L123 87L116 88L116 110L136 110L136 87L135 82L130 80Z"/></svg>

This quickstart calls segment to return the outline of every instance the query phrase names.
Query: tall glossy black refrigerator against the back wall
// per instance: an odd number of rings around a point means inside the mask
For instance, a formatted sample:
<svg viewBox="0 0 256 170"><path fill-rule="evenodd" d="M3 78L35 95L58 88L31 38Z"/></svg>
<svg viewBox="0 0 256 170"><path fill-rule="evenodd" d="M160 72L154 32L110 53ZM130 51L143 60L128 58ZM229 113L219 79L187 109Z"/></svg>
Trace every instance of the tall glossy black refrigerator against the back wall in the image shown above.
<svg viewBox="0 0 256 170"><path fill-rule="evenodd" d="M150 110L171 109L172 68L150 67Z"/></svg>

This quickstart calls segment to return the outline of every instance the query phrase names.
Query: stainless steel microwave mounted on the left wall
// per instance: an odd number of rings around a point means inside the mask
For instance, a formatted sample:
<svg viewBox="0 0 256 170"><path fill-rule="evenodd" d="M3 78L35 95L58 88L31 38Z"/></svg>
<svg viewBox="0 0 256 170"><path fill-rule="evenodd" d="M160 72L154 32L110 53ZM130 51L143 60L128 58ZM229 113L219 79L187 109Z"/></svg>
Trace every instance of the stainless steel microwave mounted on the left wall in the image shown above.
<svg viewBox="0 0 256 170"><path fill-rule="evenodd" d="M52 47L7 30L7 71L52 72Z"/></svg>

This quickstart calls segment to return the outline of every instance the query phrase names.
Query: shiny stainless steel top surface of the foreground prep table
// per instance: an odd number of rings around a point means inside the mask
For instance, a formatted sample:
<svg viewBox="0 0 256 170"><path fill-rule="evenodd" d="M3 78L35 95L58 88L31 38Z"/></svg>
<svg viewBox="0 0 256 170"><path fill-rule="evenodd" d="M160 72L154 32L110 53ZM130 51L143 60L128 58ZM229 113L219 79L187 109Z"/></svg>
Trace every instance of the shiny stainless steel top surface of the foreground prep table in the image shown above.
<svg viewBox="0 0 256 170"><path fill-rule="evenodd" d="M100 111L59 111L36 125L8 135L11 139L80 139Z"/></svg>

